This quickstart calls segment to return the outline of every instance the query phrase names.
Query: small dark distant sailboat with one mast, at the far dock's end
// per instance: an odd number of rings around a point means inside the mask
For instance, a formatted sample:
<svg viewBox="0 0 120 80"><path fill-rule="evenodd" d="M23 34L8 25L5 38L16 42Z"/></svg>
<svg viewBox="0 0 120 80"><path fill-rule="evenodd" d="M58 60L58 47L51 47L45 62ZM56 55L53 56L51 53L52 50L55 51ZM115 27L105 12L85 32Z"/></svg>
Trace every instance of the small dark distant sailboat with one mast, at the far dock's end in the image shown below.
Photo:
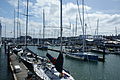
<svg viewBox="0 0 120 80"><path fill-rule="evenodd" d="M42 45L38 45L38 49L40 50L48 50L48 47L44 43L44 37L45 37L44 35L45 35L45 13L43 9L43 42Z"/></svg>

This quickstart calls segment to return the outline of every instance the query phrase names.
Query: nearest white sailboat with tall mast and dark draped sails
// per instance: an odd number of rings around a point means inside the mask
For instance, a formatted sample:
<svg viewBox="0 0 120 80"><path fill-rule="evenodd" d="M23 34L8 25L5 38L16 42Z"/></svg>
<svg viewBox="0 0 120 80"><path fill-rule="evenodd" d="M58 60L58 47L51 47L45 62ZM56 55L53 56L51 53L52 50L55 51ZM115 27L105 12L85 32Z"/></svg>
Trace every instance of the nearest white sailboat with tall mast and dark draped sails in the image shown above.
<svg viewBox="0 0 120 80"><path fill-rule="evenodd" d="M61 48L58 58L46 54L50 61L44 59L40 64L34 64L34 72L43 80L74 80L68 71L63 69L63 53L62 53L62 0L61 0Z"/></svg>

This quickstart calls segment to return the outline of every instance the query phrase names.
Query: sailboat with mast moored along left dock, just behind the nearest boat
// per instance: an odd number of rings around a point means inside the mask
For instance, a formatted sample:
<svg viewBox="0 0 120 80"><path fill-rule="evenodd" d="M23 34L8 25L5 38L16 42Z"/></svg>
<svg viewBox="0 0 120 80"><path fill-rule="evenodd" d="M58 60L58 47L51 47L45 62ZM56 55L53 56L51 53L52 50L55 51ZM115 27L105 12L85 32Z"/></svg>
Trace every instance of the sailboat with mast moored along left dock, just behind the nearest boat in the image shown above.
<svg viewBox="0 0 120 80"><path fill-rule="evenodd" d="M28 31L28 0L27 0L27 11L26 11L26 35L25 35L25 47L21 48L19 46L13 48L14 53L19 58L19 61L22 61L29 70L33 70L34 62L38 62L41 57L33 53L27 48L27 31Z"/></svg>

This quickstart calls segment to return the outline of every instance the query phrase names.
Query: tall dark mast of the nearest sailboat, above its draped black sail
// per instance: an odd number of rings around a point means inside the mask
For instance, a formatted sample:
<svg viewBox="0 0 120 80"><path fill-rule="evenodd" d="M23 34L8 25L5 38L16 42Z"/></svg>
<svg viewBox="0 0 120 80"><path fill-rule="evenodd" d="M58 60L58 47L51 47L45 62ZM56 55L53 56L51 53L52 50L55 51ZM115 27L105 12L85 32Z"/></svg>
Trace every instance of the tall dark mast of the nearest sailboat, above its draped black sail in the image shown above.
<svg viewBox="0 0 120 80"><path fill-rule="evenodd" d="M62 0L60 0L60 53L62 53Z"/></svg>

